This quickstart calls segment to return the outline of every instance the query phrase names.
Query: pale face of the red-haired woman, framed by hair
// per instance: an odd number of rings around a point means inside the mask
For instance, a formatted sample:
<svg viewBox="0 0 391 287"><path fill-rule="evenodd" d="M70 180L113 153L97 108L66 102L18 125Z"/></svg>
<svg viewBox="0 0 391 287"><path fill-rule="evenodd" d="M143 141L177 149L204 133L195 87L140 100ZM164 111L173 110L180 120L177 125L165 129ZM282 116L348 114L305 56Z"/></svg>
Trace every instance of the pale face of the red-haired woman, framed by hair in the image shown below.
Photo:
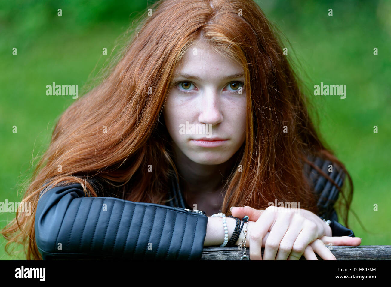
<svg viewBox="0 0 391 287"><path fill-rule="evenodd" d="M187 51L174 71L163 110L176 154L217 165L238 151L246 136L243 72L239 63L204 42Z"/></svg>

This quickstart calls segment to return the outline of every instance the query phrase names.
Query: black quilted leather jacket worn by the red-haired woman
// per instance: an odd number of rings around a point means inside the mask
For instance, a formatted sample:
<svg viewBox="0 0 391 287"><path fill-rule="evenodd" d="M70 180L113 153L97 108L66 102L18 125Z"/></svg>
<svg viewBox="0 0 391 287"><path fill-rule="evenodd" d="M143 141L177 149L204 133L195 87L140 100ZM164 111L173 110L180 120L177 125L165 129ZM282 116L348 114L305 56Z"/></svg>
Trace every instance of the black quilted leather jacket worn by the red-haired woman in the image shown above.
<svg viewBox="0 0 391 287"><path fill-rule="evenodd" d="M327 173L328 161L315 160ZM307 167L314 191L321 194L319 216L330 219L333 236L352 236L338 223L335 186ZM328 173L337 184L344 174ZM198 260L203 252L208 217L183 200L173 178L172 200L163 206L115 197L86 197L80 184L49 186L38 201L35 236L38 250L48 259ZM212 214L209 214L212 215Z"/></svg>

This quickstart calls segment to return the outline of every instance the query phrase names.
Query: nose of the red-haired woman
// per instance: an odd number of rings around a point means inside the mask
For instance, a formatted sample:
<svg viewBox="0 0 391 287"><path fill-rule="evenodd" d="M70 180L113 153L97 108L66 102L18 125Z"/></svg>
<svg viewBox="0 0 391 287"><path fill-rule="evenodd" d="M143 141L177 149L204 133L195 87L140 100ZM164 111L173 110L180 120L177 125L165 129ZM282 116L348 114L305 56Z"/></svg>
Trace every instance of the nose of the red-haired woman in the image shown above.
<svg viewBox="0 0 391 287"><path fill-rule="evenodd" d="M221 100L217 92L206 92L201 97L200 114L198 120L202 124L219 124L223 120L221 113Z"/></svg>

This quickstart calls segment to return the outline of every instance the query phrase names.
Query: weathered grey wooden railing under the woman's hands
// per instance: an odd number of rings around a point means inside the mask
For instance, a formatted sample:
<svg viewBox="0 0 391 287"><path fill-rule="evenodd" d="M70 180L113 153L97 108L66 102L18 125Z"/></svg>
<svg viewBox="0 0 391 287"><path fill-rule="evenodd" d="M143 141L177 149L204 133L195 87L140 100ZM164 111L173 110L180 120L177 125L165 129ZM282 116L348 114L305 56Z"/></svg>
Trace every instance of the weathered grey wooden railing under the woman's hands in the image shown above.
<svg viewBox="0 0 391 287"><path fill-rule="evenodd" d="M391 245L332 246L329 249L337 260L391 260ZM201 260L240 260L243 252L244 250L239 250L238 247L205 247ZM246 253L251 260L249 248ZM263 254L264 248L262 257ZM316 256L317 259L323 260L317 254ZM305 260L304 256L301 256L300 260Z"/></svg>

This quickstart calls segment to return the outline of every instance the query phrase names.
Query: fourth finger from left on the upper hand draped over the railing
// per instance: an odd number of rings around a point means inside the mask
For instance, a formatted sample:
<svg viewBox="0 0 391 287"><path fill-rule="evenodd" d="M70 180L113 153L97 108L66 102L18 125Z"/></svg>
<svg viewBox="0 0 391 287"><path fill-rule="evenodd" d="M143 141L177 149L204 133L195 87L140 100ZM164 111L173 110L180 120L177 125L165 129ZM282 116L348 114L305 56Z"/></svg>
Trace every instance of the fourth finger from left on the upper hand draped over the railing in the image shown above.
<svg viewBox="0 0 391 287"><path fill-rule="evenodd" d="M301 255L303 255L305 251L305 248L316 239L316 232L314 232L314 229L316 228L316 223L310 220L304 220L302 230L293 243L292 251L289 255L291 259L289 260L300 259Z"/></svg>

